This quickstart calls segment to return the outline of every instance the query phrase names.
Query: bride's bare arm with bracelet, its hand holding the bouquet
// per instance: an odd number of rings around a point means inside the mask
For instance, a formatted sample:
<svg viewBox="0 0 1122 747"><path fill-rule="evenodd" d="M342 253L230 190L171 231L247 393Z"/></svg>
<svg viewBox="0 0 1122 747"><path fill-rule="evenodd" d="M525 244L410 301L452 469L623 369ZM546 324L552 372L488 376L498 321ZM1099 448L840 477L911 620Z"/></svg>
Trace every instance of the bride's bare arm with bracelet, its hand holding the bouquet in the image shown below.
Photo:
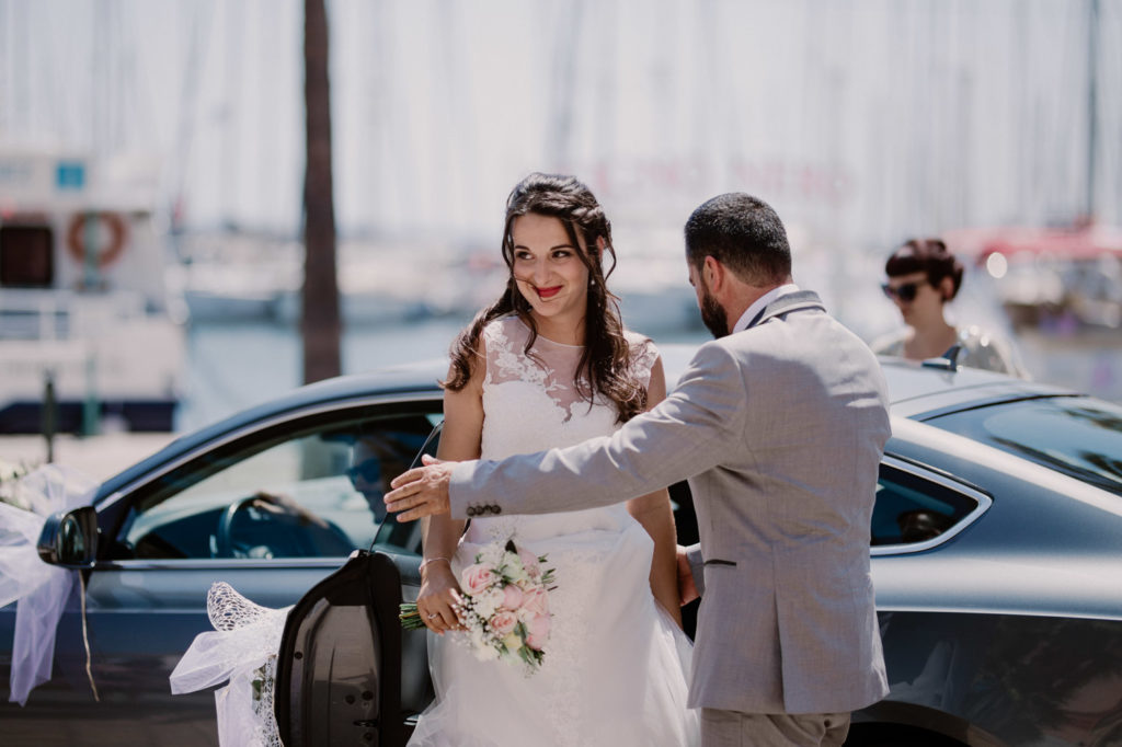
<svg viewBox="0 0 1122 747"><path fill-rule="evenodd" d="M480 341L480 347L482 342ZM486 360L485 358L480 358ZM452 461L479 458L479 442L484 427L482 377L486 367L480 362L471 378L459 391L444 389L444 427L440 434L436 458ZM449 371L449 378L452 372ZM421 591L417 611L421 620L434 633L443 633L459 625L452 605L459 601L460 585L452 572L451 559L463 534L466 522L449 514L438 514L424 522L424 561L421 566ZM430 615L435 617L430 618Z"/></svg>

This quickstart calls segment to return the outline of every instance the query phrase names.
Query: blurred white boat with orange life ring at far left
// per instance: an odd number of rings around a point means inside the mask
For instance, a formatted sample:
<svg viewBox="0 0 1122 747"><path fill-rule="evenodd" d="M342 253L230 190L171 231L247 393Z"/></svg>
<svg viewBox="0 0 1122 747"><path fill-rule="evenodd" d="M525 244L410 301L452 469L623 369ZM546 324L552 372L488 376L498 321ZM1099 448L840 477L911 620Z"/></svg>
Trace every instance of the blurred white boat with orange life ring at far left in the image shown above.
<svg viewBox="0 0 1122 747"><path fill-rule="evenodd" d="M0 433L173 428L186 306L164 283L157 176L0 147Z"/></svg>

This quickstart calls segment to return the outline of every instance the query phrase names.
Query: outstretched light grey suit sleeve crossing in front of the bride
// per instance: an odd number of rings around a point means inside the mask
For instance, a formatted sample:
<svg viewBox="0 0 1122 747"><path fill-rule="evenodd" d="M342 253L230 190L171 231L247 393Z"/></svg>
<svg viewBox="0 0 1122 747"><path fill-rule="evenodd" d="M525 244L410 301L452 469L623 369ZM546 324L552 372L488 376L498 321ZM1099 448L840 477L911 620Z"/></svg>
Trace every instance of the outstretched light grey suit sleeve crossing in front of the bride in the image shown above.
<svg viewBox="0 0 1122 747"><path fill-rule="evenodd" d="M609 506L703 472L743 449L745 381L717 343L702 345L672 395L611 436L568 449L462 462L452 516L546 514Z"/></svg>

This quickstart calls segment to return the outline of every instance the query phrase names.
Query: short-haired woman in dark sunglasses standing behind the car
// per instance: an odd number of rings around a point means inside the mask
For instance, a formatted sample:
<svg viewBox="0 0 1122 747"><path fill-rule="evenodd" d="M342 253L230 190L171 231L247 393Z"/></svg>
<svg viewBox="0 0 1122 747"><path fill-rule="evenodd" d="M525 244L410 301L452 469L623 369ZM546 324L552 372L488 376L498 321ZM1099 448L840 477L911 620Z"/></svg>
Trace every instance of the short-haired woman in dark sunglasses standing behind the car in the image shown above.
<svg viewBox="0 0 1122 747"><path fill-rule="evenodd" d="M958 295L963 264L940 239L910 239L884 264L888 283L881 288L900 310L907 326L873 342L873 350L921 361L939 358L959 345L960 366L1026 377L1012 347L977 325L955 326L944 306Z"/></svg>

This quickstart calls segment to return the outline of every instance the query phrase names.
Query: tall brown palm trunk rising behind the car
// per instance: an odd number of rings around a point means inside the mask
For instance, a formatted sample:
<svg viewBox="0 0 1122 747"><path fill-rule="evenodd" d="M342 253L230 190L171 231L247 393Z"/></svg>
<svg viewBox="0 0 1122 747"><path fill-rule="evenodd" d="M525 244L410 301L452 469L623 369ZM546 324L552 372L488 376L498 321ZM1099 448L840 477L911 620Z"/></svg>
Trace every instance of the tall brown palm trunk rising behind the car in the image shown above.
<svg viewBox="0 0 1122 747"><path fill-rule="evenodd" d="M335 209L331 190L331 89L324 0L304 0L304 102L307 164L304 174L304 289L301 332L304 382L341 371Z"/></svg>

